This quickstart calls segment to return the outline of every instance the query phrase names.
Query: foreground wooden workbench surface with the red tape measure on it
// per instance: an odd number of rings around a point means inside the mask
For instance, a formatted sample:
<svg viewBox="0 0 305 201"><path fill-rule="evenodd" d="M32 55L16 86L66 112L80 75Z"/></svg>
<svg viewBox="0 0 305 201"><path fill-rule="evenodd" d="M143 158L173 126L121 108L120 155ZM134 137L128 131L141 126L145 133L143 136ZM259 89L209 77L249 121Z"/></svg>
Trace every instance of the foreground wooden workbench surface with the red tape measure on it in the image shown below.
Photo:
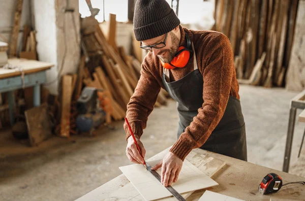
<svg viewBox="0 0 305 201"><path fill-rule="evenodd" d="M168 153L168 151L169 148L151 157L150 159L160 158L160 155L164 156L166 153ZM270 200L270 198L271 200L285 201L305 200L305 185L301 184L290 184L282 187L278 192L268 195L263 195L258 191L259 184L261 183L263 177L268 173L276 173L280 175L283 179L283 184L294 181L305 181L305 178L202 149L194 149L190 154L194 154L194 152L195 154L202 154L208 157L223 160L226 162L226 164L219 171L217 171L216 174L211 176L211 178L219 184L218 186L195 191L187 198L187 200L198 200L205 190L214 191L243 200ZM190 162L197 167L199 167L200 163L202 163L202 161L198 161L198 157L197 161L190 160ZM202 168L200 170L205 172L205 170ZM139 199L139 196L126 196L124 198L113 197L113 194L115 194L116 191L118 192L127 185L131 185L129 180L123 174L121 174L104 185L78 198L77 201L141 200Z"/></svg>

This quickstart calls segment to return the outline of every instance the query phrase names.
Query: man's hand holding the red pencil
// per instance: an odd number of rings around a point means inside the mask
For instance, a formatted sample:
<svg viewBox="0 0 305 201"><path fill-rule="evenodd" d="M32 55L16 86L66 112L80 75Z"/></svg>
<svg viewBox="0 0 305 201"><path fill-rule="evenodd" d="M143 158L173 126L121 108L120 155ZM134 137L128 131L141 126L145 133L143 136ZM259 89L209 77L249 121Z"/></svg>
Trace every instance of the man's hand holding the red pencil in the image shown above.
<svg viewBox="0 0 305 201"><path fill-rule="evenodd" d="M140 141L140 139L137 135L135 135L135 139L137 140L137 143L140 147L142 155L139 153L139 151L137 149L137 145L136 145L135 141L133 140L132 136L130 136L127 139L126 155L131 162L135 162L138 164L144 164L144 157L145 157L146 151L144 149L142 142Z"/></svg>

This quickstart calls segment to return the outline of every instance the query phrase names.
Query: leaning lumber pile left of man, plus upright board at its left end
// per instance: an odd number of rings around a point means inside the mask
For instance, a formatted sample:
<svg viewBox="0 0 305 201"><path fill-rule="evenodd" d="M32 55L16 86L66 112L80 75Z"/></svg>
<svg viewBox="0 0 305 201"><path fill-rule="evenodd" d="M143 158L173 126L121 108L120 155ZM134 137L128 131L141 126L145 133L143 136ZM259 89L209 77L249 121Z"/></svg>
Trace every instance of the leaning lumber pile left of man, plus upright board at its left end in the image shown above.
<svg viewBox="0 0 305 201"><path fill-rule="evenodd" d="M85 86L101 89L98 96L106 112L106 123L123 120L126 116L127 104L140 78L141 63L134 56L127 55L123 47L116 46L115 17L110 17L109 25L107 39L95 18L86 17L81 21L84 55L78 73L62 77L62 93L58 98L61 111L57 132L62 137L69 137L75 131L75 105ZM165 105L167 97L166 91L161 90L155 106Z"/></svg>

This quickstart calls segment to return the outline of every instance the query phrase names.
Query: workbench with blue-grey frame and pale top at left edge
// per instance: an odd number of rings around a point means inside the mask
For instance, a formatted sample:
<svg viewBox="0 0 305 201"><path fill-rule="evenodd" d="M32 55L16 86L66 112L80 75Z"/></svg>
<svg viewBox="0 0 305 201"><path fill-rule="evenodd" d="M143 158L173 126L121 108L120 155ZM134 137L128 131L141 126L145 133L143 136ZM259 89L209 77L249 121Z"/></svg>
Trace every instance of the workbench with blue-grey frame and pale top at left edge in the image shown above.
<svg viewBox="0 0 305 201"><path fill-rule="evenodd" d="M11 125L14 124L14 90L33 86L33 105L40 105L40 85L46 82L46 70L54 64L19 58L9 58L9 67L0 68L0 93L8 92Z"/></svg>

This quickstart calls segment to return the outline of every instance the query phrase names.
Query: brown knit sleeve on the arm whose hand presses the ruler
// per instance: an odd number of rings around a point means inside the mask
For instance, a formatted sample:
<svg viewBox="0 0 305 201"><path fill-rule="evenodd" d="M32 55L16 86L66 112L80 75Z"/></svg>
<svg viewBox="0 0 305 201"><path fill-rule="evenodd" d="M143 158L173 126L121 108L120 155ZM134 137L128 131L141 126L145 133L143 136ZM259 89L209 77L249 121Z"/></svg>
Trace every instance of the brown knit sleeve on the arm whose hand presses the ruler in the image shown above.
<svg viewBox="0 0 305 201"><path fill-rule="evenodd" d="M203 48L203 47L200 47ZM224 115L233 76L234 58L231 44L225 35L210 40L201 51L203 75L202 108L186 127L170 151L182 160L194 148L201 147Z"/></svg>

